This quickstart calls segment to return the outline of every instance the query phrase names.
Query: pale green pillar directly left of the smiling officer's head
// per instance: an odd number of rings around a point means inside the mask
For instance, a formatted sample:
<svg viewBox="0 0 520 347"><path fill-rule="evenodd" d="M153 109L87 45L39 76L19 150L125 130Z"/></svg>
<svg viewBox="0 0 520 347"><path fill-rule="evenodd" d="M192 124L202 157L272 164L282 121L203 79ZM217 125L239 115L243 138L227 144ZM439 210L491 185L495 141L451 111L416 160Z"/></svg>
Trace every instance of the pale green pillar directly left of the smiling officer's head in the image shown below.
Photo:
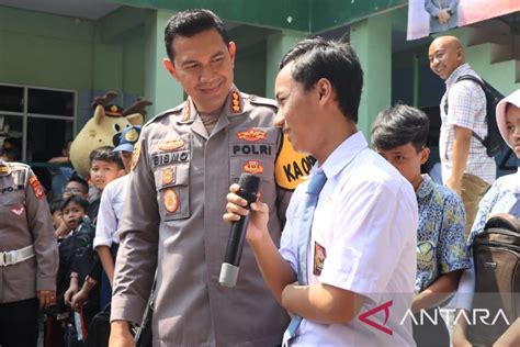
<svg viewBox="0 0 520 347"><path fill-rule="evenodd" d="M184 100L184 91L162 66L168 57L165 48L165 26L174 12L151 11L145 25L145 97L154 102L147 119L171 109Z"/></svg>

